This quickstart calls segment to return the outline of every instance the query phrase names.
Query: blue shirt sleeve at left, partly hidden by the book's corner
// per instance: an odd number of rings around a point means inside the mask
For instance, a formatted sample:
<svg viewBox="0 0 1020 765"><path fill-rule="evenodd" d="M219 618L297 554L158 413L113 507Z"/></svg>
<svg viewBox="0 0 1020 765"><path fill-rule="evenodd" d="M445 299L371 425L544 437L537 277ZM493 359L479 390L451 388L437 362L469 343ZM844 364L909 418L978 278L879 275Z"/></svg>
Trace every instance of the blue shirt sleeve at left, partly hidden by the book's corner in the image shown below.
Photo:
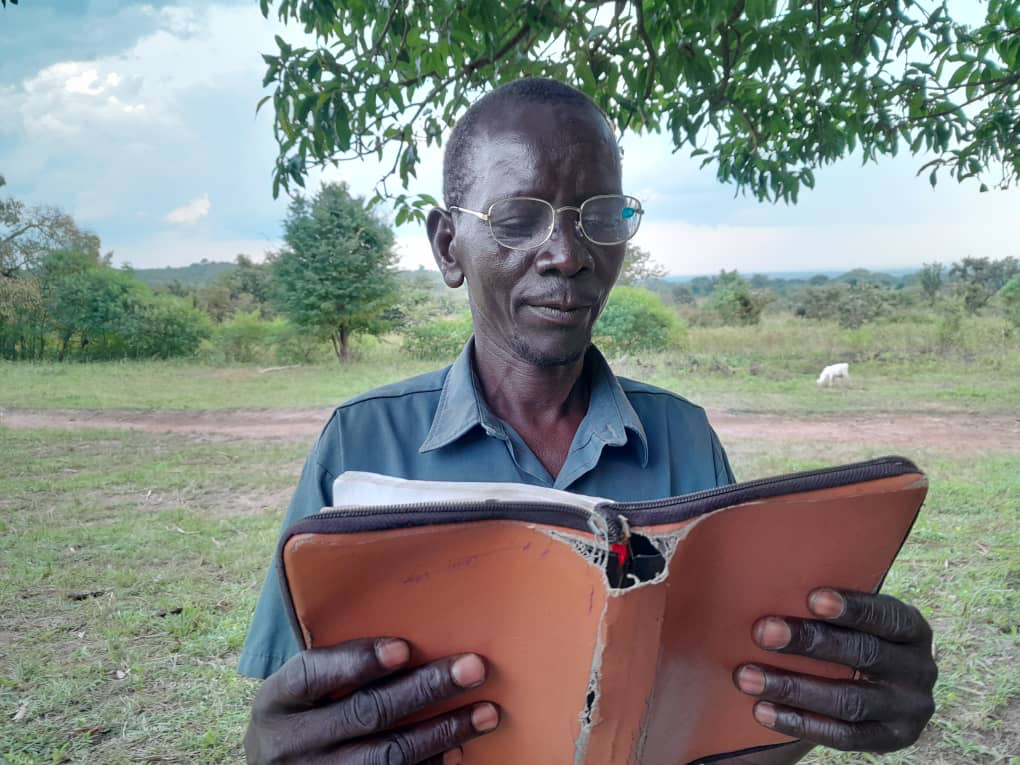
<svg viewBox="0 0 1020 765"><path fill-rule="evenodd" d="M318 444L305 462L282 531L301 518L314 515L323 507L333 504L333 481L336 477L334 473L340 470L327 469L320 460L324 451L333 451L323 447L329 444L332 437L336 437L334 427L335 419L330 419L319 436ZM333 442L336 441L333 438ZM239 671L249 677L268 677L300 650L284 607L275 561L270 560L262 593L255 606L255 615L252 617L248 636L241 651Z"/></svg>

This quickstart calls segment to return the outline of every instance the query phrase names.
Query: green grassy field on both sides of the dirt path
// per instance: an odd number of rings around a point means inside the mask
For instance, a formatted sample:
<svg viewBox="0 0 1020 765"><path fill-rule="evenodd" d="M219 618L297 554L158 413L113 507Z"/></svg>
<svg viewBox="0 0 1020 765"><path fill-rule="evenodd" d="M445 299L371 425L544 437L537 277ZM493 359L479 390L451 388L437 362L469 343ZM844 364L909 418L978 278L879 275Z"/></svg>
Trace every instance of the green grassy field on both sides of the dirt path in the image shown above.
<svg viewBox="0 0 1020 765"><path fill-rule="evenodd" d="M1015 340L936 355L887 338L854 357L850 387L819 391L820 363L862 347L847 334L818 347L819 337L761 332L693 332L690 353L615 366L752 425L781 413L852 427L877 410L1020 427ZM0 408L226 416L327 406L435 365L385 344L346 369L5 364ZM887 451L867 436L723 438L742 479ZM235 666L310 439L0 426L0 762L240 761L255 683ZM886 592L936 630L938 709L920 746L812 761L1020 763L1020 444L998 444L928 439L907 451L931 489Z"/></svg>

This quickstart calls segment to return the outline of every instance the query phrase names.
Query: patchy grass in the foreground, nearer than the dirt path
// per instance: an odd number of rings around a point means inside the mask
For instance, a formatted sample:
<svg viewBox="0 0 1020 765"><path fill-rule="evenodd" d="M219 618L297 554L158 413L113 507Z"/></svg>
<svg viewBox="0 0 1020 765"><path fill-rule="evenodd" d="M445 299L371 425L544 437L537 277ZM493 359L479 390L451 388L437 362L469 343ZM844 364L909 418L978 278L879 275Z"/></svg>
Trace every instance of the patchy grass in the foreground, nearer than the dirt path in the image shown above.
<svg viewBox="0 0 1020 765"><path fill-rule="evenodd" d="M237 657L307 446L0 429L0 762L241 758L255 683ZM871 451L730 444L747 478ZM920 748L881 761L1007 763L1020 753L1020 455L918 461L930 501L886 591L936 626L938 712Z"/></svg>

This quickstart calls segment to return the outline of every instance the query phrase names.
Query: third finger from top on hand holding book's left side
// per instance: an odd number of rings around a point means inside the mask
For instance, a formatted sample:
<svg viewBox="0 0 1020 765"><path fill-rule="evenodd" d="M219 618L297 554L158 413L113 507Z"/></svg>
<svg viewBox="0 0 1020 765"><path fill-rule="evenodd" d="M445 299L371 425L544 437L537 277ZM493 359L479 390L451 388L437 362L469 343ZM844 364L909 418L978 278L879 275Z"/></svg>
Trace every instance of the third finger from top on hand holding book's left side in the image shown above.
<svg viewBox="0 0 1020 765"><path fill-rule="evenodd" d="M340 747L328 763L417 765L421 762L457 763L459 748L499 724L499 711L483 702L381 735ZM432 759L439 758L439 759Z"/></svg>

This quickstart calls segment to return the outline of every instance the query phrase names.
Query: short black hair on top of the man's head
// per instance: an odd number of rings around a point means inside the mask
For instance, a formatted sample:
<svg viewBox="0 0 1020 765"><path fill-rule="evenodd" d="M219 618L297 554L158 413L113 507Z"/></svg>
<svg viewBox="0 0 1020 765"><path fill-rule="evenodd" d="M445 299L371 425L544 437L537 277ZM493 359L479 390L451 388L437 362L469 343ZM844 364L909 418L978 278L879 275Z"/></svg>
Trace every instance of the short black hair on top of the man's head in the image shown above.
<svg viewBox="0 0 1020 765"><path fill-rule="evenodd" d="M576 88L548 78L524 78L500 86L475 101L457 120L443 155L443 197L447 206L460 205L470 181L469 154L476 138L481 117L489 111L512 101L539 104L566 104L594 109L609 125L609 117L595 101Z"/></svg>

